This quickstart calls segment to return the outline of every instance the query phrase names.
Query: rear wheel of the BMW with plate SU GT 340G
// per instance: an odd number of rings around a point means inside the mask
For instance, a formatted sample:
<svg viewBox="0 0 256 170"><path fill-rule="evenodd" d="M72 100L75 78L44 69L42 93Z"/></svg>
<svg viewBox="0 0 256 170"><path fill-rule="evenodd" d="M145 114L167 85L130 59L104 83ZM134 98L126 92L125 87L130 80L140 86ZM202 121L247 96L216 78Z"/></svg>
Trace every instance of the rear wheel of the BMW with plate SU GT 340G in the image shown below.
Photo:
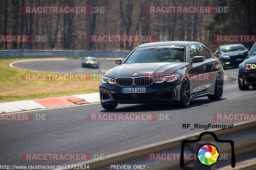
<svg viewBox="0 0 256 170"><path fill-rule="evenodd" d="M223 79L220 73L217 74L215 87L214 87L214 94L208 96L209 100L220 100L223 94Z"/></svg>

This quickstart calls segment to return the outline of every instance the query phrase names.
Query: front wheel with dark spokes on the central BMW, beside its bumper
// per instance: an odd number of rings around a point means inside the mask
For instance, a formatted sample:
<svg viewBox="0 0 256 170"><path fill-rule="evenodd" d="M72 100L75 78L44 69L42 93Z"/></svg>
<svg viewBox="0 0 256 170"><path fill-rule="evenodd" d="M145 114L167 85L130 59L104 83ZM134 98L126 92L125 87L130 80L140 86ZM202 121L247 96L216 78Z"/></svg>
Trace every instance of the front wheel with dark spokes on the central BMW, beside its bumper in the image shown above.
<svg viewBox="0 0 256 170"><path fill-rule="evenodd" d="M180 86L180 107L188 107L190 98L190 83L188 78L184 78Z"/></svg>

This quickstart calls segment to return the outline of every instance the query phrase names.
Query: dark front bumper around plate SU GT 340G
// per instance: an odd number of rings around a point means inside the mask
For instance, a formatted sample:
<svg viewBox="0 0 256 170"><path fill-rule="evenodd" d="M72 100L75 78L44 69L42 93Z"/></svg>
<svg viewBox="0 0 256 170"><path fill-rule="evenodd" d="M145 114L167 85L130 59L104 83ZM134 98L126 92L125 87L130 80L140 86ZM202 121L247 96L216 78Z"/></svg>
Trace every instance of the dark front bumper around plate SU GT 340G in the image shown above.
<svg viewBox="0 0 256 170"><path fill-rule="evenodd" d="M146 88L146 93L122 93L121 86L100 82L100 102L140 104L179 101L180 83L180 80L174 82L153 83L148 86L140 86ZM136 88L138 86L131 86L129 88L133 87ZM136 95L132 96L132 94Z"/></svg>

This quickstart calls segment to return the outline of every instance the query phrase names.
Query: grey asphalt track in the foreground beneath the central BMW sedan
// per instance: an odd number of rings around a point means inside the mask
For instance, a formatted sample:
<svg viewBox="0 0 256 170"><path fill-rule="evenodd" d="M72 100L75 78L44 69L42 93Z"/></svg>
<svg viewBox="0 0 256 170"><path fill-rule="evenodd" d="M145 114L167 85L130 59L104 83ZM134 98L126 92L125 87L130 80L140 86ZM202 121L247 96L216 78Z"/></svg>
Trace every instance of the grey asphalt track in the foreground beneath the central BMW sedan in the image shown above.
<svg viewBox="0 0 256 170"><path fill-rule="evenodd" d="M233 74L235 70L226 70ZM230 72L230 73L229 73ZM236 72L237 74L237 72ZM215 121L216 113L255 113L256 88L239 91L238 85L224 87L221 100L195 99L187 108L175 105L118 105L113 112L100 104L80 105L29 114L45 114L46 120L0 121L1 165L63 165L80 161L25 161L24 153L90 153L108 155L156 142L181 137L204 129L182 129L183 123L232 124ZM89 121L91 113L169 114L170 120Z"/></svg>

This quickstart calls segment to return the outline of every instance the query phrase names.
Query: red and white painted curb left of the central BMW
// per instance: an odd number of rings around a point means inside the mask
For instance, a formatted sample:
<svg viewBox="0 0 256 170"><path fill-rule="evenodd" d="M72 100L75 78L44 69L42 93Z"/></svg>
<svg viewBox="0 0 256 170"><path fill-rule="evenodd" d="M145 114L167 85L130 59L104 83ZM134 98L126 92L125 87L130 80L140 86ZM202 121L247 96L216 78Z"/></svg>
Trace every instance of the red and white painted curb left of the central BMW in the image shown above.
<svg viewBox="0 0 256 170"><path fill-rule="evenodd" d="M100 102L99 92L74 96L53 97L35 100L21 100L0 103L0 113L13 113L52 107L72 106Z"/></svg>

